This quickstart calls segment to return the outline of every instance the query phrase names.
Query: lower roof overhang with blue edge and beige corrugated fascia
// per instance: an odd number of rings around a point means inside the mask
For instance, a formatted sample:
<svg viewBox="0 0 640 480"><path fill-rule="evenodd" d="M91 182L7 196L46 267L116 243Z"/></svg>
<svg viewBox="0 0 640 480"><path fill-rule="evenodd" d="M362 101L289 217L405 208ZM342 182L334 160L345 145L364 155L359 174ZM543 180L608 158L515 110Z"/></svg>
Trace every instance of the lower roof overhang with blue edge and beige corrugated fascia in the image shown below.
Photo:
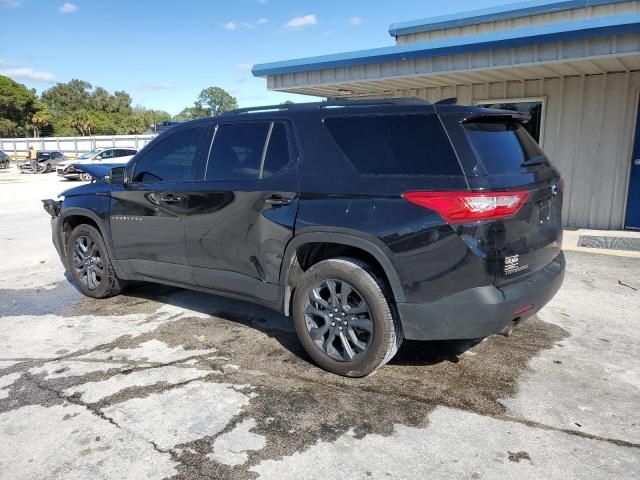
<svg viewBox="0 0 640 480"><path fill-rule="evenodd" d="M640 14L552 27L257 65L254 75L270 90L339 98L640 71Z"/></svg>

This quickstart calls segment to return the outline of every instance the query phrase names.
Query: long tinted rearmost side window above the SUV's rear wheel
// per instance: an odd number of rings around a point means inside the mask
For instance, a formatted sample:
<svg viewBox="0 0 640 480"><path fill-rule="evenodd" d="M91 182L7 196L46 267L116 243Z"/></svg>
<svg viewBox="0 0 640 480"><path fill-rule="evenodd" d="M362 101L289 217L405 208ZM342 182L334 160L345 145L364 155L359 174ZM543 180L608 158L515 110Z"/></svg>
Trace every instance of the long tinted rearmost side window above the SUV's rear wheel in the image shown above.
<svg viewBox="0 0 640 480"><path fill-rule="evenodd" d="M461 175L435 115L332 117L324 123L354 167L371 175Z"/></svg>

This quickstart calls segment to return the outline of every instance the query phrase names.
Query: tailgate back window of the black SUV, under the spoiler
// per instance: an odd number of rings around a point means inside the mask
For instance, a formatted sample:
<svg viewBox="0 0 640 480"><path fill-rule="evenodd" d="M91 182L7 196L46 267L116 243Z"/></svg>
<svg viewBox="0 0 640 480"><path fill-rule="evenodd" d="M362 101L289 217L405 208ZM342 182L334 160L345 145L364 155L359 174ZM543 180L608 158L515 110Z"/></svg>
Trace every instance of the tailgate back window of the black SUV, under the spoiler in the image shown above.
<svg viewBox="0 0 640 480"><path fill-rule="evenodd" d="M518 173L525 162L544 157L542 149L519 123L477 122L466 123L464 128L489 174Z"/></svg>

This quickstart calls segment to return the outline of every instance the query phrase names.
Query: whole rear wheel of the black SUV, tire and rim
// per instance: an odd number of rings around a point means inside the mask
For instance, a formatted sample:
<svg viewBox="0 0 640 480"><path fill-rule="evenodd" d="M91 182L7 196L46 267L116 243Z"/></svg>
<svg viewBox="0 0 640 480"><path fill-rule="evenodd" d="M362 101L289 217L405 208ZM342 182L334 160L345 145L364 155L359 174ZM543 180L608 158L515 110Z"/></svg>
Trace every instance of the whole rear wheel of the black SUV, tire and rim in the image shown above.
<svg viewBox="0 0 640 480"><path fill-rule="evenodd" d="M294 293L293 319L311 358L347 377L364 377L391 360L402 330L387 290L367 264L352 258L307 270Z"/></svg>

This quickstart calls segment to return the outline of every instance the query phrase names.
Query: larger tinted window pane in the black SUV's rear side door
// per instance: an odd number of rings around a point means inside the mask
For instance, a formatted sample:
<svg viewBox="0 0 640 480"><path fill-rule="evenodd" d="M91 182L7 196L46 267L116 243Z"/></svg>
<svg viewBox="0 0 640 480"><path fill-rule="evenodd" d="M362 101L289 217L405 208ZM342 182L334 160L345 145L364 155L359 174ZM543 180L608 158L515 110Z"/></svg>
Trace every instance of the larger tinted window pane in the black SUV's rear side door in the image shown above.
<svg viewBox="0 0 640 480"><path fill-rule="evenodd" d="M209 156L206 179L257 179L269 125L269 123L219 125Z"/></svg>

